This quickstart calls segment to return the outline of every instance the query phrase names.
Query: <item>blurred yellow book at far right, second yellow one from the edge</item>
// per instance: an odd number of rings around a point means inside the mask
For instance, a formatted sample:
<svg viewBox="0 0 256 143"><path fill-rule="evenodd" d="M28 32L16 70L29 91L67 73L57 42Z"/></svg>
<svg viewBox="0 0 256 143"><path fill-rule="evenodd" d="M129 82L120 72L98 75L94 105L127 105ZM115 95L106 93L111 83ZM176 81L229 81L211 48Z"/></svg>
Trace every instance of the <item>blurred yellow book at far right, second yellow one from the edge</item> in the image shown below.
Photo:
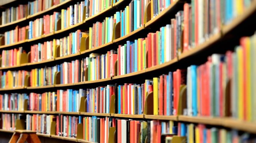
<svg viewBox="0 0 256 143"><path fill-rule="evenodd" d="M244 111L244 98L243 98L243 93L244 93L244 69L243 69L243 51L242 47L237 47L236 48L236 54L237 54L237 70L238 70L238 119L244 119L243 116L243 111Z"/></svg>

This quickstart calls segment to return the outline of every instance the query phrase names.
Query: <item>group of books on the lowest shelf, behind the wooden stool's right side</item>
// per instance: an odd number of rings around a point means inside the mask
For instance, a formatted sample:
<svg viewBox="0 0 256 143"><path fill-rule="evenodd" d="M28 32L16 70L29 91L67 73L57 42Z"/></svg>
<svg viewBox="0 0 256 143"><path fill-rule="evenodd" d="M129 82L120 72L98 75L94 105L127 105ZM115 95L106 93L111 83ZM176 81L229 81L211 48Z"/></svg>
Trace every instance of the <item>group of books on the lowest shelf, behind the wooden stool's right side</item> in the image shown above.
<svg viewBox="0 0 256 143"><path fill-rule="evenodd" d="M36 131L41 134L50 134L51 123L54 120L54 115L46 114L27 114L26 115L26 129ZM56 118L56 117L55 117Z"/></svg>

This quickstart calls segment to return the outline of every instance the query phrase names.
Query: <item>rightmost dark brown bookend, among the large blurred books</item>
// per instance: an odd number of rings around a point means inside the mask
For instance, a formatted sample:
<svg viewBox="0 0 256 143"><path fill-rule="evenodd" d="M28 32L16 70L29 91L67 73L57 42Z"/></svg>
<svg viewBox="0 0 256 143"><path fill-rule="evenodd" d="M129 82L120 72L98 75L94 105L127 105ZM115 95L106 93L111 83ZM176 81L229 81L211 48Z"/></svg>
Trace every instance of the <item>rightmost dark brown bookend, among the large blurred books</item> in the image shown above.
<svg viewBox="0 0 256 143"><path fill-rule="evenodd" d="M224 116L229 117L231 116L231 103L228 101L231 101L231 80L228 79L228 82L225 87L225 101L224 101Z"/></svg>

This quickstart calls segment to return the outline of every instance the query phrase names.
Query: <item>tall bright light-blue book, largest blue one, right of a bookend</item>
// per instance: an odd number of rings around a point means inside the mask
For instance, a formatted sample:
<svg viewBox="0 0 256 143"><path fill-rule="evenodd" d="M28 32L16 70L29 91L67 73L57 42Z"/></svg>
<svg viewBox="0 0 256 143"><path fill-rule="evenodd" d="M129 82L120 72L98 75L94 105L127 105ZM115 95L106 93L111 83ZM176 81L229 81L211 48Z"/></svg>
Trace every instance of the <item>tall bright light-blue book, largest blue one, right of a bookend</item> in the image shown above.
<svg viewBox="0 0 256 143"><path fill-rule="evenodd" d="M196 65L191 65L191 86L192 86L192 114L193 116L197 116L197 74Z"/></svg>

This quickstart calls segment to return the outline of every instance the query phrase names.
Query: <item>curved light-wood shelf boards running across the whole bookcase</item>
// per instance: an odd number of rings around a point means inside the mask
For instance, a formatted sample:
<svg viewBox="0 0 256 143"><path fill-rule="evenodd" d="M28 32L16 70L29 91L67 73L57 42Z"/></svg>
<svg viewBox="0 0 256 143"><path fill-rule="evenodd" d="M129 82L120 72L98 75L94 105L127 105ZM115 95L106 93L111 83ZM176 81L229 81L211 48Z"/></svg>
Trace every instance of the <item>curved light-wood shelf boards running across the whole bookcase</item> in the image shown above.
<svg viewBox="0 0 256 143"><path fill-rule="evenodd" d="M159 21L163 20L164 18L167 18L169 15L175 15L177 12L177 9L180 8L186 2L185 0L177 0L174 3L171 3L170 6L168 6L166 9L164 9L159 15L157 15L155 18L152 20L147 21L143 26L139 27L138 29L134 30L133 32L130 32L129 34L125 36L117 36L114 39L111 40L111 42L108 42L106 44L100 45L98 47L88 49L88 45L85 45L83 51L79 51L76 54L71 54L68 56L63 56L63 57L54 57L53 59L50 60L45 60L41 62L35 62L35 63L30 63L29 60L27 63L22 63L17 66L9 66L9 67L2 67L0 70L7 71L7 70L12 70L12 69L31 69L33 66L47 66L48 64L52 64L55 62L66 62L69 61L70 59L79 59L81 56L89 55L94 52L98 51L106 51L106 48L109 50L112 50L113 47L117 47L120 44L124 44L125 41L128 40L134 40L137 37L145 37L145 33L147 34L148 32L151 32L154 29L154 26L156 26ZM5 25L0 26L1 28L5 28L14 24L19 24L26 22L30 19L37 18L39 16L44 15L47 12L54 11L55 9L62 8L65 5L69 5L71 3L71 0L66 0L63 3L60 3L59 5L53 6L50 9L46 9L45 11L39 12L34 15L30 15L26 18L23 18L18 21L14 21L12 23L8 23ZM116 11L117 8L122 9L122 6L124 5L123 3L125 0L120 0L119 2L112 4L109 6L109 8L99 12L96 15L93 15L92 17L86 18L80 23L77 23L75 25L69 26L65 29L62 30L57 30L54 31L53 33L49 33L48 35L43 35L37 38L32 38L32 39L27 39L25 41L20 41L16 42L14 44L9 44L9 45L2 45L0 46L0 50L3 50L5 48L12 48L12 47L19 47L21 45L31 45L32 43L35 43L37 41L46 41L46 39L51 39L54 38L56 35L62 35L66 34L69 32L74 31L75 29L79 29L82 26L87 26L93 24L95 21L98 20L98 18L102 17L107 17L111 12ZM252 1L250 7L239 17L234 18L234 20L231 21L230 24L224 25L221 27L221 30L217 32L214 35L209 36L209 38L203 42L202 44L197 45L193 49L186 51L184 53L181 53L180 55L177 55L177 57L174 57L174 59L162 63L160 65L152 66L150 68L145 68L137 72L131 72L129 74L124 74L124 75L115 75L112 77L100 79L100 80L93 80L93 81L82 81L78 83L68 83L68 84L57 84L60 83L60 79L56 79L55 84L53 85L48 85L48 86L39 86L39 87L30 87L29 85L26 85L25 87L16 87L12 89L0 89L1 93L4 93L5 91L8 92L27 92L30 93L31 91L40 91L40 90L58 90L58 89L72 89L72 88L78 88L81 86L106 86L108 83L126 83L126 81L129 80L135 80L136 78L144 75L151 75L151 73L156 73L160 72L162 73L163 70L167 68L171 69L177 69L176 67L179 67L182 63L184 63L184 60L186 59L191 59L194 56L198 56L200 54L204 54L205 51L212 49L214 45L216 44L221 44L225 42L225 39L228 38L230 33L234 32L237 27L241 26L244 24L244 21L246 21L248 18L250 18L252 15L254 15L256 12L256 1ZM170 18L169 18L170 19ZM119 25L120 26L120 25ZM157 27L159 28L159 27ZM120 29L117 27L117 29ZM113 31L113 33L116 33L116 31ZM118 32L117 32L118 33ZM186 66L186 65L185 65ZM117 67L115 67L117 68ZM166 72L166 71L165 71ZM164 72L164 73L165 73ZM57 78L57 77L55 77ZM89 87L83 87L83 88L89 88ZM40 91L41 92L41 91ZM115 101L117 102L117 101ZM110 106L111 107L111 106ZM81 108L81 107L80 107ZM182 108L182 107L181 107ZM171 115L171 116L163 116L163 115L153 115L153 114L117 114L116 112L114 113L87 113L85 111L80 111L79 112L66 112L66 111L3 111L0 110L0 113L16 113L16 114L48 114L48 115L56 115L56 114L63 114L63 115L74 115L74 116L81 116L81 117L91 117L91 116L97 116L97 117L111 117L111 118L121 118L121 119L134 119L134 120L171 120L175 122L181 122L181 123L195 123L195 124L204 124L204 125L210 125L210 126L218 126L218 127L223 127L223 128L231 128L231 129L237 129L238 131L244 131L244 132L249 132L251 134L256 134L256 126L255 122L249 122L249 121L244 121L244 120L238 120L238 119L232 119L230 117L211 117L211 116L185 116L182 114L178 115ZM55 123L56 124L56 123ZM52 130L52 128L51 128ZM0 132L10 132L12 133L13 131L6 130L6 129L0 129ZM53 131L54 132L54 131ZM55 128L56 132L56 128ZM67 141L74 141L74 142L81 142L81 143L93 143L91 141L85 141L80 138L71 138L71 137L62 137L58 136L55 134L41 134L37 133L37 135L42 136L42 137L48 137L48 138L56 138L60 140L67 140Z"/></svg>

